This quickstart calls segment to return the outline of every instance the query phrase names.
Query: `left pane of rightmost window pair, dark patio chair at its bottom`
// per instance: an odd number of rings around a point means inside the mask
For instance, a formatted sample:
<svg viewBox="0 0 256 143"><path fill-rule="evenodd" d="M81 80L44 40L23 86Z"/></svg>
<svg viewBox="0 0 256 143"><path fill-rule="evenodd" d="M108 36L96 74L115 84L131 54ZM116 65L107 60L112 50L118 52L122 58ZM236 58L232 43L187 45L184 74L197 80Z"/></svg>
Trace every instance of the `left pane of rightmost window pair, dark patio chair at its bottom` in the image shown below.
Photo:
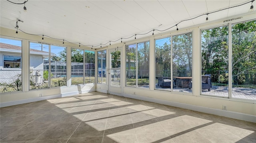
<svg viewBox="0 0 256 143"><path fill-rule="evenodd" d="M202 30L201 40L202 94L228 97L228 26Z"/></svg>

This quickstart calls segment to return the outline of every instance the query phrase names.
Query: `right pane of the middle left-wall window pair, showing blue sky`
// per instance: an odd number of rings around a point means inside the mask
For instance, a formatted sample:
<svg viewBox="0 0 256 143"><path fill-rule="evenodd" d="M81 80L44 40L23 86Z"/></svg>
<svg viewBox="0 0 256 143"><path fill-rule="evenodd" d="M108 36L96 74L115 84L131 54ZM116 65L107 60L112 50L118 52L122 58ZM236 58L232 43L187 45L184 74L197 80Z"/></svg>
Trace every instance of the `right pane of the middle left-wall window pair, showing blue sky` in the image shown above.
<svg viewBox="0 0 256 143"><path fill-rule="evenodd" d="M67 85L66 47L50 46L51 53L51 87ZM46 63L48 61L44 61ZM46 68L44 68L46 69Z"/></svg>

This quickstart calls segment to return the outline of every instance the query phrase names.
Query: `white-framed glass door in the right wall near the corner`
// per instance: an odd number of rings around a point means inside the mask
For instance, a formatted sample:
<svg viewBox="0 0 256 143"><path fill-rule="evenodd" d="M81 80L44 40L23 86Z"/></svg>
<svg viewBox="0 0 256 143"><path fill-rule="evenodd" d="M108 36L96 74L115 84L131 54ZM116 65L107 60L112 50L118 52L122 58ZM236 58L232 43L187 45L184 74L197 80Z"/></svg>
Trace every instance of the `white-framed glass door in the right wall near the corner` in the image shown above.
<svg viewBox="0 0 256 143"><path fill-rule="evenodd" d="M121 94L121 48L110 49L109 93Z"/></svg>

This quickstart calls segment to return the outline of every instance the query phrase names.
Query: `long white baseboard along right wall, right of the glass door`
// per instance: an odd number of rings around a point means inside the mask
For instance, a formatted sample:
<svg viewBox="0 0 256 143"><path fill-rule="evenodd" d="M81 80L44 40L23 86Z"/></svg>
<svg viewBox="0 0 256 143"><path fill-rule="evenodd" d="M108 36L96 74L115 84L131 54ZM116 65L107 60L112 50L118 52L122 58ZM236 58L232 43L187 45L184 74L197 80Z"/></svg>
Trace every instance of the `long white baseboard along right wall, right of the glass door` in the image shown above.
<svg viewBox="0 0 256 143"><path fill-rule="evenodd" d="M214 109L214 108L207 108L207 107L202 107L202 106L184 104L184 103L179 103L179 102L172 102L172 101L161 100L161 99L156 99L156 98L149 98L149 97L132 95L132 94L123 94L123 95L124 95L124 97L128 97L128 98L134 98L134 99L138 99L138 100L144 100L144 101L148 101L148 102L154 102L154 103L164 104L164 105L168 105L168 106L174 106L174 107L189 109L189 110L193 110L193 111L198 111L198 112L203 112L203 113L208 113L208 114L213 114L213 115L218 115L218 116L224 116L224 117L233 118L233 119L240 119L240 120L256 123L256 116L249 115L249 114L219 110L219 109Z"/></svg>

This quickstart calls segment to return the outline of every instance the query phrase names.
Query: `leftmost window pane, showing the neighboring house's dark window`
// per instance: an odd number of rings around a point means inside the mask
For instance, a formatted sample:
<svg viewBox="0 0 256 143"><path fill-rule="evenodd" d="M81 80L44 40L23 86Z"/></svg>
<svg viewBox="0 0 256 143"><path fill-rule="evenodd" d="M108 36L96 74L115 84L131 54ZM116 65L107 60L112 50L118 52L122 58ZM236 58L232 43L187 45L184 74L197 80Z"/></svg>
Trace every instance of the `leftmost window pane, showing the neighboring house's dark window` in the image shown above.
<svg viewBox="0 0 256 143"><path fill-rule="evenodd" d="M0 93L22 91L21 43L0 38Z"/></svg>

